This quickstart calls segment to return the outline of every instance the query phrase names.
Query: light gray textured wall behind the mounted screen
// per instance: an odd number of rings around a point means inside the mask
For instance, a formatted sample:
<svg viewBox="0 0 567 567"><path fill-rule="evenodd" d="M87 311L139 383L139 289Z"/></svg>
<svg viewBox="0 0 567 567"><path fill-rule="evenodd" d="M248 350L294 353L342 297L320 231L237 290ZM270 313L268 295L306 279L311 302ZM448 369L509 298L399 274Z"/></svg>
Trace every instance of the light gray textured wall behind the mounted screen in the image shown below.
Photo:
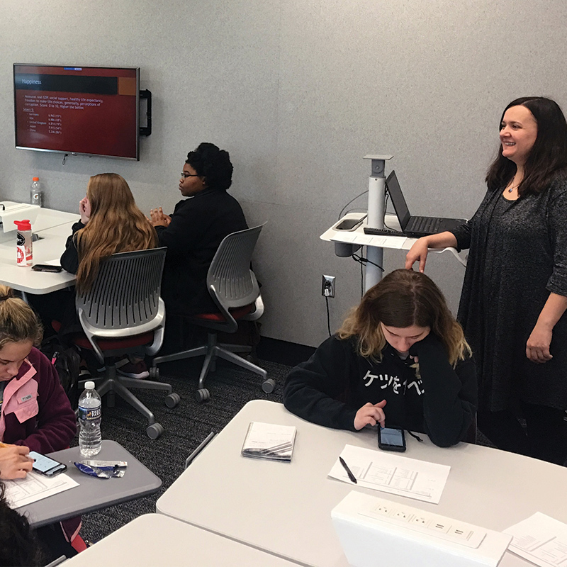
<svg viewBox="0 0 567 567"><path fill-rule="evenodd" d="M395 155L414 214L470 216L484 193L507 102L566 106L567 6L558 0L4 0L0 20L0 198L76 210L89 176L114 171L142 210L179 200L186 152L230 151L232 193L250 224L268 220L254 264L268 337L326 335L320 276L337 276L332 328L359 296L359 269L319 235L367 186L367 153ZM139 163L13 148L14 62L135 65L154 95ZM361 198L354 206L364 207ZM388 269L403 253L388 252ZM429 273L456 309L463 269Z"/></svg>

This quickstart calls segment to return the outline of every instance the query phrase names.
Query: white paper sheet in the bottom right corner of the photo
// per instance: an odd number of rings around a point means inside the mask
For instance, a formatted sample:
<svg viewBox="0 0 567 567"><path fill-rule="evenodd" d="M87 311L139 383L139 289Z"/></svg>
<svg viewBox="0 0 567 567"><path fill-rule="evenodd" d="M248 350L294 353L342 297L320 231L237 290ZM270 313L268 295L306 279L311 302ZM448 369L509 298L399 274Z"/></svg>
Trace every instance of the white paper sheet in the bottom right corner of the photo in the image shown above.
<svg viewBox="0 0 567 567"><path fill-rule="evenodd" d="M536 512L504 533L513 538L513 554L541 567L567 566L567 524Z"/></svg>

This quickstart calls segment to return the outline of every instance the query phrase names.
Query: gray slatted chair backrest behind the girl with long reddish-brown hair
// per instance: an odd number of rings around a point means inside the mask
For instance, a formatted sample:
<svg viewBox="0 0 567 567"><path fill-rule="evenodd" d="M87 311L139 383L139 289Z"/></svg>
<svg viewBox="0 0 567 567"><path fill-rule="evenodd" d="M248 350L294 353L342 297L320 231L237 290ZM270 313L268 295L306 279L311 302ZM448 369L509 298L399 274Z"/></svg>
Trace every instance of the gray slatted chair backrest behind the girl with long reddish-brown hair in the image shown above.
<svg viewBox="0 0 567 567"><path fill-rule="evenodd" d="M82 322L98 329L133 329L158 313L167 248L119 252L103 260L89 291L77 294Z"/></svg>

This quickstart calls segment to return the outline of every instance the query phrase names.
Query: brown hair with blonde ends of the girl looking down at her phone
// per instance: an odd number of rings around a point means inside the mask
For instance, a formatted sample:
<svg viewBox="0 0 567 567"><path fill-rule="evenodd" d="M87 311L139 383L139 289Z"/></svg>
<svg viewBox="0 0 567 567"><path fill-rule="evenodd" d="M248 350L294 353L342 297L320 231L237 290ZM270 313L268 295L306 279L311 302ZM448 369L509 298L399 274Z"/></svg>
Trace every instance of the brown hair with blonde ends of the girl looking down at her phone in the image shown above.
<svg viewBox="0 0 567 567"><path fill-rule="evenodd" d="M419 271L392 271L366 291L338 331L340 339L356 337L361 357L381 360L386 347L380 323L386 327L430 327L439 337L454 366L471 356L471 347L456 322L441 290Z"/></svg>

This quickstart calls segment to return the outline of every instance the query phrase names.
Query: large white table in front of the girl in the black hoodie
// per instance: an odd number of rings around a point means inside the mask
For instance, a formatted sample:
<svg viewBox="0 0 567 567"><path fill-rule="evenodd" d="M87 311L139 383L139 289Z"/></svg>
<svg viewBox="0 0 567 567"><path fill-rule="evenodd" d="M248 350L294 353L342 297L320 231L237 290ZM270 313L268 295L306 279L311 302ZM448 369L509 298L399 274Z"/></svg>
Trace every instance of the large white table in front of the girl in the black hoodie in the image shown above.
<svg viewBox="0 0 567 567"><path fill-rule="evenodd" d="M296 425L291 463L240 455L251 421ZM439 505L357 490L498 531L538 510L567 522L566 468L466 443L441 449L422 437L407 437L405 456L451 466ZM254 400L157 500L157 511L291 561L347 567L330 515L352 485L327 478L347 443L377 449L376 430L330 430ZM500 565L529 563L506 553Z"/></svg>

